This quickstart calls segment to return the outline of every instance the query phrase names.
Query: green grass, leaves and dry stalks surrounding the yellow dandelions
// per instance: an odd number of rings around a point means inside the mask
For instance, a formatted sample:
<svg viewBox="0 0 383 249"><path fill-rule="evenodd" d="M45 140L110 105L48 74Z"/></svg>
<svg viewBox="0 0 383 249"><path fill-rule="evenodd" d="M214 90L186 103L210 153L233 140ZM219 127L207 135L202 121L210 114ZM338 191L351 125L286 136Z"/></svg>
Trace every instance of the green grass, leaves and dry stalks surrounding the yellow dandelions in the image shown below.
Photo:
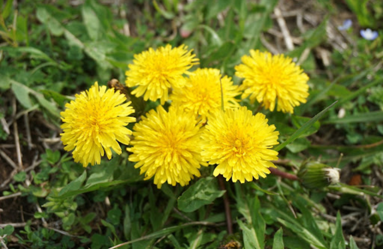
<svg viewBox="0 0 383 249"><path fill-rule="evenodd" d="M380 0L0 3L3 247L383 245ZM285 43L277 10L293 47ZM352 28L339 31L348 18ZM364 28L380 30L379 37L363 39L359 30ZM164 184L158 190L143 181L127 152L87 169L74 163L59 138L59 112L66 101L94 81L124 82L134 54L167 43L186 44L200 58L200 67L219 68L229 76L250 49L293 57L310 76L310 96L293 115L263 111L280 132L280 143L337 103L279 148L276 164L296 174L304 161L320 159L341 169L340 184L309 190L275 175L246 184L227 182L234 228L228 234L224 191L211 177L212 167L190 186ZM142 103L137 116L157 104ZM243 104L257 109L257 104ZM229 247L230 241L239 244Z"/></svg>

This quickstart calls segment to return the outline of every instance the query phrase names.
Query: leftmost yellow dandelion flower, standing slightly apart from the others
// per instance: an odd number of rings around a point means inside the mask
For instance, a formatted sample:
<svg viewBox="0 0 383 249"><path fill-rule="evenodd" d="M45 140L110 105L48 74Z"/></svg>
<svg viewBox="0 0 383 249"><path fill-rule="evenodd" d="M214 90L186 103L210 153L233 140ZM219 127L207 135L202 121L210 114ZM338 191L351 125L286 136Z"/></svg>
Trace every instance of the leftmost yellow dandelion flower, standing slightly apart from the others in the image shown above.
<svg viewBox="0 0 383 249"><path fill-rule="evenodd" d="M114 89L106 90L106 86L98 86L96 82L89 91L75 95L76 99L65 104L61 112L61 141L64 149L73 151L75 162L84 167L88 164L100 164L101 156L106 152L111 159L113 149L121 154L118 142L128 144L132 131L125 126L135 122L131 102L124 103L126 97ZM117 142L118 141L118 142Z"/></svg>

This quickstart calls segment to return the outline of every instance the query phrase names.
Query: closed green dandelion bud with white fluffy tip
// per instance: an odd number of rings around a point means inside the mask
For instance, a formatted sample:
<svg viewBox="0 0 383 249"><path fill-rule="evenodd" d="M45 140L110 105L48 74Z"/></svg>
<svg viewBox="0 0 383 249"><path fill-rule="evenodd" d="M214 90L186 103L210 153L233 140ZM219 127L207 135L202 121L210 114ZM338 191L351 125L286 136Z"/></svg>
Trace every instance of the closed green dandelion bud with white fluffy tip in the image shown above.
<svg viewBox="0 0 383 249"><path fill-rule="evenodd" d="M319 162L309 162L302 164L298 177L304 187L318 189L339 182L339 169Z"/></svg>

